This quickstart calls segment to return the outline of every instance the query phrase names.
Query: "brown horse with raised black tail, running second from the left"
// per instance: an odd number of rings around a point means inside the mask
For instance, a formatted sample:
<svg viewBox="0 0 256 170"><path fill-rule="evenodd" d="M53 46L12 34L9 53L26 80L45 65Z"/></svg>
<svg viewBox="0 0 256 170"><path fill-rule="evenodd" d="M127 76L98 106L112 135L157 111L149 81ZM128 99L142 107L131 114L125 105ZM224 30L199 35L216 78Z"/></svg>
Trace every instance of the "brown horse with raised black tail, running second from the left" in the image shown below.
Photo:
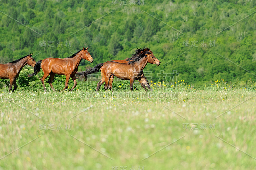
<svg viewBox="0 0 256 170"><path fill-rule="evenodd" d="M68 58L61 59L61 58L49 57L49 58L45 58L44 60L39 60L34 67L34 73L28 74L28 77L32 77L32 76L36 75L42 68L44 75L40 80L42 81L44 91L46 91L46 88L44 85L44 80L49 75L50 75L50 78L49 78L48 83L50 84L52 90L55 91L55 89L52 85L52 81L53 81L55 74L65 75L66 83L65 83L65 87L64 87L63 91L68 88L68 81L69 81L70 77L74 81L74 86L72 87L72 89L70 89L70 91L72 91L76 87L76 84L77 84L75 74L78 70L78 65L80 64L82 58L84 60L90 61L90 63L93 62L92 56L90 55L90 53L87 50L88 50L88 47L87 48L83 47L82 50L79 50L77 53L73 54L72 56L70 56Z"/></svg>

